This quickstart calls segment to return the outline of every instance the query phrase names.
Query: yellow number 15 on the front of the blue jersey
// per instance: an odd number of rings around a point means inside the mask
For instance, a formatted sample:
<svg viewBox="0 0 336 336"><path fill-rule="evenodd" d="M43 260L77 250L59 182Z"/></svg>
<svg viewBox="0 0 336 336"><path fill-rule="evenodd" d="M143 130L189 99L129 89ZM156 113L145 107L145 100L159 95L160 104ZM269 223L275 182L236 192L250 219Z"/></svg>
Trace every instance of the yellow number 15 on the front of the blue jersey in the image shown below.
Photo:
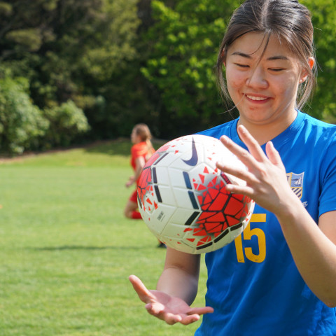
<svg viewBox="0 0 336 336"><path fill-rule="evenodd" d="M244 253L245 253L246 258L253 262L263 262L266 258L265 233L261 229L258 229L258 228L251 229L250 223L256 223L256 222L265 223L266 214L253 214L251 216L251 221L248 223L243 233L235 239L235 246L236 246L238 262L245 262ZM244 238L244 240L251 240L252 236L258 237L259 254L254 254L252 252L251 247L246 247L243 250L242 238Z"/></svg>

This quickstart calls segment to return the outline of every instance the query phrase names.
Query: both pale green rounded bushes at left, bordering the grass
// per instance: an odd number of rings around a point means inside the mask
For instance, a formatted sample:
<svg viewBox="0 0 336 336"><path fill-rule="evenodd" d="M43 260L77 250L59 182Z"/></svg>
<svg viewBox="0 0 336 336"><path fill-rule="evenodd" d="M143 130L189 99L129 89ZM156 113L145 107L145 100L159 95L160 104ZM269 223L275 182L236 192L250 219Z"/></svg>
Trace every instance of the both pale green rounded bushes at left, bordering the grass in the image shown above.
<svg viewBox="0 0 336 336"><path fill-rule="evenodd" d="M69 146L89 125L72 101L41 111L29 99L25 78L0 79L0 146L3 153Z"/></svg>

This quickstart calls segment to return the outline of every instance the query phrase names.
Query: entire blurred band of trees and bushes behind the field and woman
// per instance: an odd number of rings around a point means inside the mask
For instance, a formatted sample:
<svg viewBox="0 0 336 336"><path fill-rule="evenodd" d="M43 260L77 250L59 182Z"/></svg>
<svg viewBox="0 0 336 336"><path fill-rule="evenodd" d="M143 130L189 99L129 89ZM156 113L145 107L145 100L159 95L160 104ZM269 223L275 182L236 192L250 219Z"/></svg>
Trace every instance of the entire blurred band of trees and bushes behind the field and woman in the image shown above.
<svg viewBox="0 0 336 336"><path fill-rule="evenodd" d="M335 0L313 14L318 87L305 112L336 121ZM129 137L173 139L225 123L214 66L235 0L0 1L0 152Z"/></svg>

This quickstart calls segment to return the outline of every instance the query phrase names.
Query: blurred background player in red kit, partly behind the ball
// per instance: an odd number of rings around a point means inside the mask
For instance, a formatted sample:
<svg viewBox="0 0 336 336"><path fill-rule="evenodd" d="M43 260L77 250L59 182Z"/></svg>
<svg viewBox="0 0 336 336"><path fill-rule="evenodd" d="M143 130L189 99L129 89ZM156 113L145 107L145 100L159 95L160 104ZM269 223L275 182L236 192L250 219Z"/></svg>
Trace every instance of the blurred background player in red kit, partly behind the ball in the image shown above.
<svg viewBox="0 0 336 336"><path fill-rule="evenodd" d="M127 218L141 219L141 215L137 210L137 186L145 163L155 152L151 143L151 138L151 131L146 124L137 124L133 127L131 141L134 145L131 148L131 166L134 169L134 175L130 176L130 179L126 183L126 187L129 188L135 183L136 188L124 210L124 214Z"/></svg>

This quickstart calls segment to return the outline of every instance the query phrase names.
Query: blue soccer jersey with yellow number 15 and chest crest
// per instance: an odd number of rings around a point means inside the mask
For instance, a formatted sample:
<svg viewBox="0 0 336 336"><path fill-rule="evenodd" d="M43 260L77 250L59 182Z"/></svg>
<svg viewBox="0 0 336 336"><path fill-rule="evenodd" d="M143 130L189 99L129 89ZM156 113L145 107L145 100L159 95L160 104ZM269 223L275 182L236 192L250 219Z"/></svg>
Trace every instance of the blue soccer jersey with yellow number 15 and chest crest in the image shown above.
<svg viewBox="0 0 336 336"><path fill-rule="evenodd" d="M216 138L225 134L246 148L237 134L237 120L200 134ZM336 210L335 125L298 112L293 124L272 142L290 187L317 225L321 214ZM214 314L203 316L195 335L336 335L335 309L304 283L271 212L256 204L244 232L205 259L206 301Z"/></svg>

